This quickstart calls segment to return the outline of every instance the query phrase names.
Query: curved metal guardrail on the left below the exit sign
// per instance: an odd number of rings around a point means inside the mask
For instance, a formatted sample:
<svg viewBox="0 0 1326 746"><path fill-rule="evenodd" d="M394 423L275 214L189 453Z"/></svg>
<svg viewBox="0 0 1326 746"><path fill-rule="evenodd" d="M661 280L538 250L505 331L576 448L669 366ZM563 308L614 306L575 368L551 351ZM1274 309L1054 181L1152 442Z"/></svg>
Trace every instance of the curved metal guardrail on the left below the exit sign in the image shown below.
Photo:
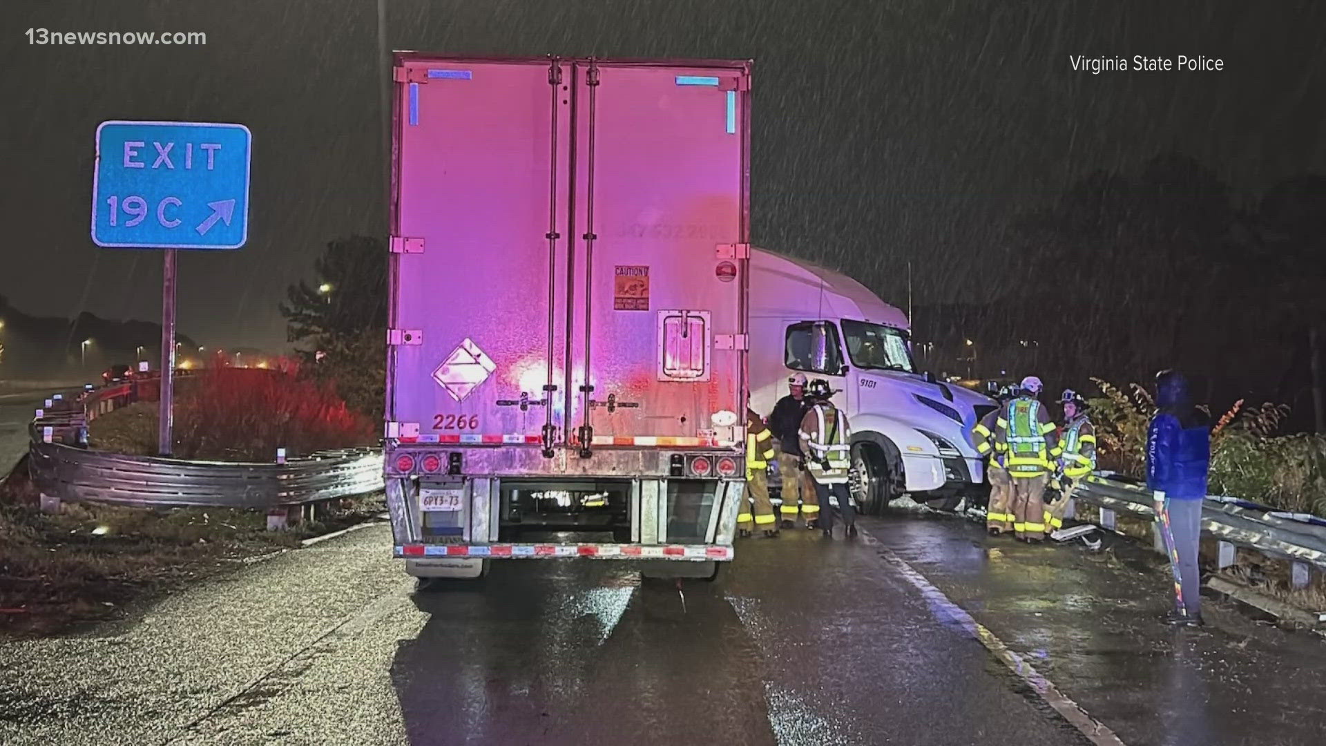
<svg viewBox="0 0 1326 746"><path fill-rule="evenodd" d="M139 507L280 508L383 488L382 451L320 451L285 463L231 463L110 454L86 447L88 422L138 400L117 384L53 400L29 427L29 470L42 495Z"/></svg>

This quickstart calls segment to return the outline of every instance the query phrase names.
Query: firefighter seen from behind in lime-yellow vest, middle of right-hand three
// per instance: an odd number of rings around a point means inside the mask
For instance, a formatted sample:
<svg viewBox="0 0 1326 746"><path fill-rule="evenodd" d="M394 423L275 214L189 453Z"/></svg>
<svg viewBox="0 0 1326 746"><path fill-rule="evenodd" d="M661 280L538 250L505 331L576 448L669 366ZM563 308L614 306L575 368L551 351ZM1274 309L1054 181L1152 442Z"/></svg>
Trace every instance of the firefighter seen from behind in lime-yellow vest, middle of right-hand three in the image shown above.
<svg viewBox="0 0 1326 746"><path fill-rule="evenodd" d="M1004 453L1004 467L1013 486L1013 534L1020 542L1045 538L1042 492L1058 458L1058 438L1045 406L1036 398L1042 389L1036 376L1022 378L1017 397L1000 408L994 421L994 447Z"/></svg>

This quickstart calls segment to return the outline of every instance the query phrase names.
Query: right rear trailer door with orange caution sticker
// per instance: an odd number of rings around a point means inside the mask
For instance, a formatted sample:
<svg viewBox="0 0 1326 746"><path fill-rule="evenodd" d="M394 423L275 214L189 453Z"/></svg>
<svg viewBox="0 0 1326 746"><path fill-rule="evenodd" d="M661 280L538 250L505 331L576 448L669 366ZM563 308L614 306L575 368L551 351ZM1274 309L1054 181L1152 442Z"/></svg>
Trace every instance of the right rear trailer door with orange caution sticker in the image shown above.
<svg viewBox="0 0 1326 746"><path fill-rule="evenodd" d="M572 77L566 429L609 446L712 438L711 417L745 404L745 70L579 62Z"/></svg>

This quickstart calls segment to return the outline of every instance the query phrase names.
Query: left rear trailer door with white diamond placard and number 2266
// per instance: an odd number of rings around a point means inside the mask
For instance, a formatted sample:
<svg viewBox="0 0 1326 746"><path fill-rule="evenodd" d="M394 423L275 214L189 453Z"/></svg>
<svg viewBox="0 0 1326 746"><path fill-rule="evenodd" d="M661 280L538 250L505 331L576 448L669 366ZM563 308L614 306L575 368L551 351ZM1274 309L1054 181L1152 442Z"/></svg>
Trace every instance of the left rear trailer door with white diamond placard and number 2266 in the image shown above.
<svg viewBox="0 0 1326 746"><path fill-rule="evenodd" d="M389 419L402 435L537 446L561 417L545 386L564 368L568 66L395 69Z"/></svg>

